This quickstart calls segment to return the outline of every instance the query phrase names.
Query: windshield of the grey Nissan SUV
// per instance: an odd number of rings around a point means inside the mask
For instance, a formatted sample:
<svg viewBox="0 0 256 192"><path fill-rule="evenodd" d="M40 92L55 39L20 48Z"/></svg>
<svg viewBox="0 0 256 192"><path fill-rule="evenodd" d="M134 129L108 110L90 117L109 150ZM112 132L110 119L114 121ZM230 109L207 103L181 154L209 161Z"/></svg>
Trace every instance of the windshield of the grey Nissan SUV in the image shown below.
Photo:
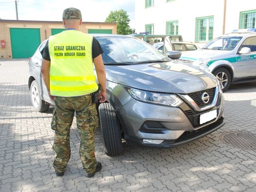
<svg viewBox="0 0 256 192"><path fill-rule="evenodd" d="M146 42L130 37L96 37L103 49L105 65L135 64L152 60L166 62L170 59Z"/></svg>

